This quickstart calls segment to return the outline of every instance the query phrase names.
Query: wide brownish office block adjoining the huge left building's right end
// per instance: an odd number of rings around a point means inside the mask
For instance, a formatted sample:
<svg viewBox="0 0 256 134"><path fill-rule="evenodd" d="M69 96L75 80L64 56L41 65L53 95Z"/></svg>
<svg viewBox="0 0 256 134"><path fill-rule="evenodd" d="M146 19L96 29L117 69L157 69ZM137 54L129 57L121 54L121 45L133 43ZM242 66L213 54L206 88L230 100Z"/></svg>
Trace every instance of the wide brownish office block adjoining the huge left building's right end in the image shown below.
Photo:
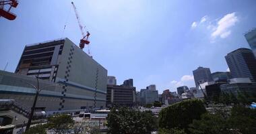
<svg viewBox="0 0 256 134"><path fill-rule="evenodd" d="M131 82L132 79L125 80L121 85L107 85L107 94L106 94L106 106L126 106L132 107L135 105L135 92L136 88L125 82Z"/></svg>

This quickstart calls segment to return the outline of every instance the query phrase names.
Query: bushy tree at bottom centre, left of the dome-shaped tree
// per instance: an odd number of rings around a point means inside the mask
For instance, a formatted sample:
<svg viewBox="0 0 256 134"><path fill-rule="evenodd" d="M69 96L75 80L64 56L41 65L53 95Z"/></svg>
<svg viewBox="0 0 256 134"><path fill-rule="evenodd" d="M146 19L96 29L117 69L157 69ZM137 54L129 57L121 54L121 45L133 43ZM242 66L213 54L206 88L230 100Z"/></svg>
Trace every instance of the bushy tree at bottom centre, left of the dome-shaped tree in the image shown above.
<svg viewBox="0 0 256 134"><path fill-rule="evenodd" d="M111 109L106 126L111 134L147 134L156 129L156 119L151 111Z"/></svg>

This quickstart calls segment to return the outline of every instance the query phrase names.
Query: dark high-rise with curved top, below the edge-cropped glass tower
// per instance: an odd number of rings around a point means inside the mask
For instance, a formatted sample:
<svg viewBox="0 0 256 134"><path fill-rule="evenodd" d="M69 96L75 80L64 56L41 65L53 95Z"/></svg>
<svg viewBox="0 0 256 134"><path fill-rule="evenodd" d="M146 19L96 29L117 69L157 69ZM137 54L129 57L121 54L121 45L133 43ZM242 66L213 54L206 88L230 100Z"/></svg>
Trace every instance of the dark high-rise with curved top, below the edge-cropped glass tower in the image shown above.
<svg viewBox="0 0 256 134"><path fill-rule="evenodd" d="M225 56L232 78L250 78L256 82L256 59L252 50L239 48Z"/></svg>

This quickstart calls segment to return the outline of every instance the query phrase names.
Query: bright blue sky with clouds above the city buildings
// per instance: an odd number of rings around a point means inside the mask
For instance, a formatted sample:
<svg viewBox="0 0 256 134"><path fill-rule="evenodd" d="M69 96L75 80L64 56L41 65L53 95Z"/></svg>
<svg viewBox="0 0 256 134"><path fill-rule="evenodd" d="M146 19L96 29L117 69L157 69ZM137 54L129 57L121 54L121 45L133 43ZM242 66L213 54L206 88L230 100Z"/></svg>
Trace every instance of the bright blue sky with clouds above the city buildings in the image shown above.
<svg viewBox="0 0 256 134"><path fill-rule="evenodd" d="M243 34L256 27L256 1L74 1L90 31L94 59L137 90L195 86L198 66L226 71L224 56L249 48ZM0 69L13 72L26 44L82 37L71 1L20 1L14 21L0 17ZM63 31L64 25L67 25ZM87 52L86 49L84 49Z"/></svg>

